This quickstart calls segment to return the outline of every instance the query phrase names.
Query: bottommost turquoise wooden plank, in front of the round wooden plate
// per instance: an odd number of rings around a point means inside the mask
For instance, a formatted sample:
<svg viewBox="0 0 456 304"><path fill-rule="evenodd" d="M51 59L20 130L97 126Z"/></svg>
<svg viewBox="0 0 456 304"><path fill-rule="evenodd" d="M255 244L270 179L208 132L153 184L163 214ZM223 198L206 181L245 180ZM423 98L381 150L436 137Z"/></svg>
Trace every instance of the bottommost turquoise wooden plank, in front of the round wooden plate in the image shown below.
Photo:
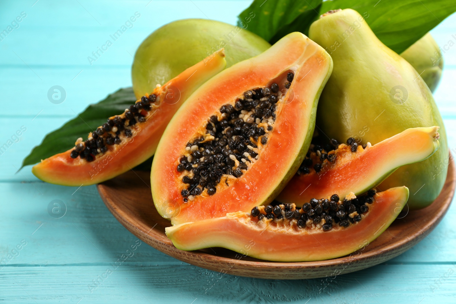
<svg viewBox="0 0 456 304"><path fill-rule="evenodd" d="M138 304L428 304L454 303L456 296L454 264L381 264L332 280L286 281L221 275L185 263L132 265L127 261L115 269L110 263L5 267L0 272L1 298L6 303L84 304L109 299L109 303ZM112 273L104 274L109 268ZM93 280L100 282L98 287Z"/></svg>

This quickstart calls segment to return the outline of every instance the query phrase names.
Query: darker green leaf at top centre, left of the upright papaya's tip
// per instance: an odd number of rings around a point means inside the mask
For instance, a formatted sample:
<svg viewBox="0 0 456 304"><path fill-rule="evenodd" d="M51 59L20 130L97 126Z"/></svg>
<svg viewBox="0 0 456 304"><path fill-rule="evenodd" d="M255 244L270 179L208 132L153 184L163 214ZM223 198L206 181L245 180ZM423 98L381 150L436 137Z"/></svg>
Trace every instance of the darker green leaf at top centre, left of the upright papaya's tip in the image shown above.
<svg viewBox="0 0 456 304"><path fill-rule="evenodd" d="M238 15L238 26L274 43L292 31L308 29L320 4L321 0L254 0Z"/></svg>

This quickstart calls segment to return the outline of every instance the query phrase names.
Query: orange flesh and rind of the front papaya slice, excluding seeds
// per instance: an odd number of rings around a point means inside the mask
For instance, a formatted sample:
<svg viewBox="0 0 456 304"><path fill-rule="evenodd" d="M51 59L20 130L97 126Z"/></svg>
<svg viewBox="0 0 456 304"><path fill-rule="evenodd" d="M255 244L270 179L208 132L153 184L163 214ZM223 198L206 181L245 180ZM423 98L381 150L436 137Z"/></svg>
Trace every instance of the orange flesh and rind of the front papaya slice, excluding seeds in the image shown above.
<svg viewBox="0 0 456 304"><path fill-rule="evenodd" d="M250 213L239 211L167 227L166 235L174 246L182 250L223 247L254 258L278 262L338 258L362 249L382 234L404 207L409 190L397 187L375 196L363 219L347 228L339 226L325 231L322 227L298 227L295 219L264 217L258 220Z"/></svg>

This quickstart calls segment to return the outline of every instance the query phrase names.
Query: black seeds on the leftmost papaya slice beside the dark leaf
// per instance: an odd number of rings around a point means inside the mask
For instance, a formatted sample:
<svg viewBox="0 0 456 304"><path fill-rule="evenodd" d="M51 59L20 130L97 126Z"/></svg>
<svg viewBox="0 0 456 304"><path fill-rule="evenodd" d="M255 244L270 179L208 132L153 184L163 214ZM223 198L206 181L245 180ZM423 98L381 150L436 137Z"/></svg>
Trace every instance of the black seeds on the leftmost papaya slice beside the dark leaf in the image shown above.
<svg viewBox="0 0 456 304"><path fill-rule="evenodd" d="M79 156L81 159L93 161L96 155L108 151L108 145L120 144L122 140L119 135L122 132L125 137L133 136L133 126L145 122L145 116L150 111L150 103L154 103L156 98L155 94L143 96L140 101L132 104L123 114L108 119L105 124L92 132L86 141L76 144L70 156L72 158Z"/></svg>

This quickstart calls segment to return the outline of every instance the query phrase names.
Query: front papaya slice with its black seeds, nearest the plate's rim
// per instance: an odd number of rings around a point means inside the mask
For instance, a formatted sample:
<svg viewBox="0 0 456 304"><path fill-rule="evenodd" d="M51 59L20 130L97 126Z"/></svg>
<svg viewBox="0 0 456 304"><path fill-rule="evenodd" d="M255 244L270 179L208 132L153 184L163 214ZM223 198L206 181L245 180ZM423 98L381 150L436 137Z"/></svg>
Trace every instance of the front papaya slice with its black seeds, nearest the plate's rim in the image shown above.
<svg viewBox="0 0 456 304"><path fill-rule="evenodd" d="M406 187L360 197L351 195L337 202L337 208L344 211L335 213L347 214L346 210L353 208L360 214L354 211L338 222L335 221L337 216L329 215L332 206L328 200L318 201L315 209L307 211L304 207L295 208L294 204L274 208L259 206L251 213L238 211L167 227L166 235L182 250L223 247L269 261L320 261L342 257L367 246L389 227L408 198ZM326 209L322 209L324 204ZM316 214L318 208L319 215ZM279 216L275 215L276 210ZM309 216L309 213L314 214Z"/></svg>

